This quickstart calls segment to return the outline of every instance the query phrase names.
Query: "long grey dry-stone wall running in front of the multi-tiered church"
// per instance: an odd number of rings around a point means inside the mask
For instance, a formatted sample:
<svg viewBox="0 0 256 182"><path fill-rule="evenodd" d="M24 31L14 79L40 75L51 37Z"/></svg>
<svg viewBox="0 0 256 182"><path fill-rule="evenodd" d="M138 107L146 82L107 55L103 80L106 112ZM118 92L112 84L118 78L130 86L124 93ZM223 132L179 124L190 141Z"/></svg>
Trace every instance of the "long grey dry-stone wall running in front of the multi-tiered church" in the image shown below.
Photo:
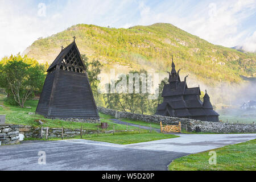
<svg viewBox="0 0 256 182"><path fill-rule="evenodd" d="M187 128L187 131L196 131L196 127L198 126L200 127L201 131L209 133L256 133L256 125L254 124L232 124L200 121L188 118L166 117L162 115L133 114L124 111L116 111L105 107L98 107L98 111L104 114L113 115L115 118L129 118L155 123L162 121L164 125L177 125L180 121L181 128Z"/></svg>

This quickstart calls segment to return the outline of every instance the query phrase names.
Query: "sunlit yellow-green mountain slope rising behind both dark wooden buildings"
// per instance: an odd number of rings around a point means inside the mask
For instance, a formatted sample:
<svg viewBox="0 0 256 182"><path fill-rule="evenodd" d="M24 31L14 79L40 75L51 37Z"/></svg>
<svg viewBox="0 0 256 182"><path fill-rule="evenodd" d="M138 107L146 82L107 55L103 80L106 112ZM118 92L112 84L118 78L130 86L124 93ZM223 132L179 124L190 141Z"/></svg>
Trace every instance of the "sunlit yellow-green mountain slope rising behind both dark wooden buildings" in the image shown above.
<svg viewBox="0 0 256 182"><path fill-rule="evenodd" d="M241 82L241 76L255 76L256 56L216 46L172 24L156 23L131 28L106 28L77 24L48 38L36 40L24 51L40 62L51 63L76 36L82 54L98 59L105 71L146 68L170 71L171 55L181 72L191 73L207 85L220 81Z"/></svg>

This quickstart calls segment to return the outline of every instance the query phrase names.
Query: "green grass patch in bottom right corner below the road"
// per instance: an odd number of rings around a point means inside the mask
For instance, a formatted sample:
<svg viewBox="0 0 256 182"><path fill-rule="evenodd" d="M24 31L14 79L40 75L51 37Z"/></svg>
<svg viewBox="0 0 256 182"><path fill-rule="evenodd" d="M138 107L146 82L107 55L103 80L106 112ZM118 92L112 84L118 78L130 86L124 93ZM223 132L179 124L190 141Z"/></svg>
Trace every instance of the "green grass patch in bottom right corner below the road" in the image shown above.
<svg viewBox="0 0 256 182"><path fill-rule="evenodd" d="M256 139L248 142L232 144L214 149L217 154L217 164L210 165L209 151L183 156L175 159L168 167L171 171L256 171Z"/></svg>

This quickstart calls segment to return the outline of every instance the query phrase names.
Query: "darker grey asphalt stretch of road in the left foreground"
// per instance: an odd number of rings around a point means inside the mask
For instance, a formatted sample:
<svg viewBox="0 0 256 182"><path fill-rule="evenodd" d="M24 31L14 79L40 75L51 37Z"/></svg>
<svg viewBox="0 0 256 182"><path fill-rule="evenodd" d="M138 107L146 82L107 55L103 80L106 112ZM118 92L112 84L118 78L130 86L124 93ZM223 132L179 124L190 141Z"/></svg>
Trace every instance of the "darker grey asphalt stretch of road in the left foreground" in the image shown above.
<svg viewBox="0 0 256 182"><path fill-rule="evenodd" d="M38 164L39 151L46 164ZM141 150L89 140L31 142L0 147L0 170L167 170L182 152Z"/></svg>

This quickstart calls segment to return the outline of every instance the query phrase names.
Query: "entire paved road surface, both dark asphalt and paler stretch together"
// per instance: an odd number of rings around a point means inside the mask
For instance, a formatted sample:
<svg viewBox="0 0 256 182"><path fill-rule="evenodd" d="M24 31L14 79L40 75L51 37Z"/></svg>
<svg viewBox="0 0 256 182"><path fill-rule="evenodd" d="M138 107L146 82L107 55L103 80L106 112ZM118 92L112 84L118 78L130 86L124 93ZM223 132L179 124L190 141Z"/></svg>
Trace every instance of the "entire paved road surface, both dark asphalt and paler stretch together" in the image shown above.
<svg viewBox="0 0 256 182"><path fill-rule="evenodd" d="M179 135L127 145L59 140L0 146L0 170L167 170L181 156L256 138L256 134ZM38 164L39 151L46 152L46 164Z"/></svg>

